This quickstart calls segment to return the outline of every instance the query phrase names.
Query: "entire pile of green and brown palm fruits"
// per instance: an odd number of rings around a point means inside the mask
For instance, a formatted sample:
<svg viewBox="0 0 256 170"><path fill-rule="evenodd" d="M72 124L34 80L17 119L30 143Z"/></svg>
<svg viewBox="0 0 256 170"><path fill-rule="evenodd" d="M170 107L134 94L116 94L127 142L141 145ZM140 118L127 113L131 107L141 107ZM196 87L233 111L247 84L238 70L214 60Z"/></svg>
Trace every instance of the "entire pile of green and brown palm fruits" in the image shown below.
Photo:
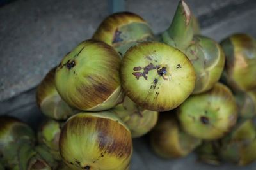
<svg viewBox="0 0 256 170"><path fill-rule="evenodd" d="M1 116L0 170L129 169L145 134L164 159L243 166L256 160L256 41L201 35L183 0L159 35L115 13L49 71L36 101L47 117L37 132Z"/></svg>

